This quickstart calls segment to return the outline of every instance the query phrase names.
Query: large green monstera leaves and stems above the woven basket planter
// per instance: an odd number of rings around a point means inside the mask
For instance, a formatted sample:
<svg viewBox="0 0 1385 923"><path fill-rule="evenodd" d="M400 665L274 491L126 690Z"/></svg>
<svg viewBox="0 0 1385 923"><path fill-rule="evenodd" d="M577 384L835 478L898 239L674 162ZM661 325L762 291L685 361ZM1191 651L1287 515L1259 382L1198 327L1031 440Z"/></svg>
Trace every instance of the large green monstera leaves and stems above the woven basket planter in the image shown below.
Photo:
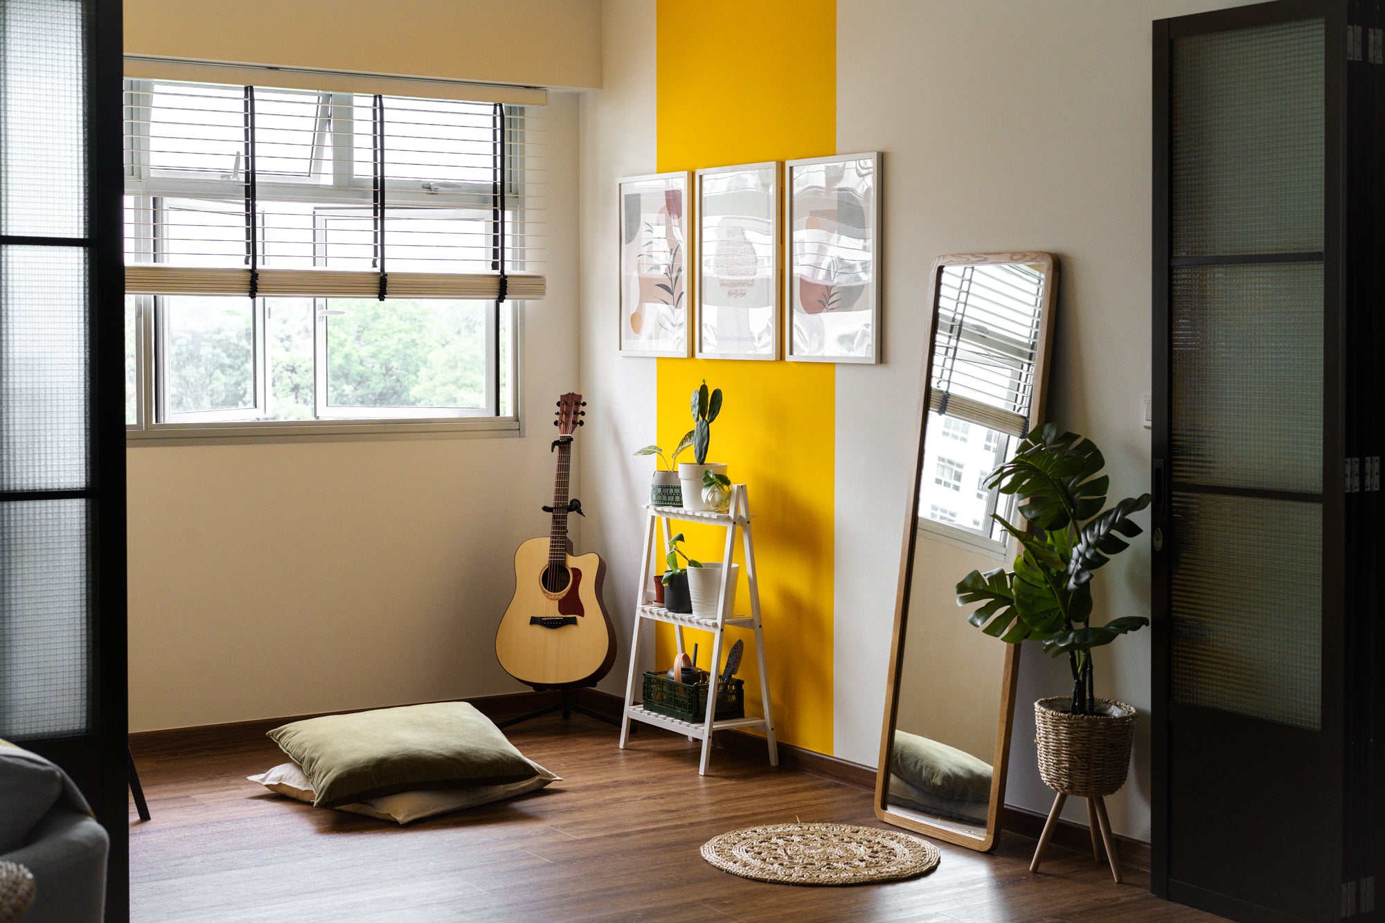
<svg viewBox="0 0 1385 923"><path fill-rule="evenodd" d="M1093 715L1091 649L1150 624L1125 615L1093 621L1091 577L1112 554L1123 552L1140 527L1130 518L1150 506L1150 495L1126 498L1108 510L1111 478L1096 443L1054 423L1035 427L1015 456L990 473L986 486L1018 499L1029 528L996 514L1019 542L1014 570L972 571L957 583L957 604L981 606L968 621L1011 644L1043 642L1053 657L1068 654L1072 667L1072 714Z"/></svg>

